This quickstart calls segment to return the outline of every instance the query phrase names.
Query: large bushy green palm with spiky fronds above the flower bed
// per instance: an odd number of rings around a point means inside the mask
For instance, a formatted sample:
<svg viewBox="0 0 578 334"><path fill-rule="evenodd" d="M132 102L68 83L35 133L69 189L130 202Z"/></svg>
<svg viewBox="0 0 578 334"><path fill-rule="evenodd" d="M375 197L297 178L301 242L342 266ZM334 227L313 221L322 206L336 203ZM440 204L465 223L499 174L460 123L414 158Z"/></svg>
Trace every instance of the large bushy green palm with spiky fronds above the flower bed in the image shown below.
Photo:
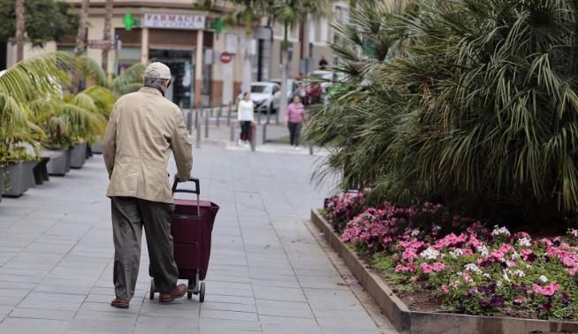
<svg viewBox="0 0 578 334"><path fill-rule="evenodd" d="M347 88L310 119L327 173L376 199L507 222L578 209L578 5L358 1L333 46ZM547 28L544 28L547 27ZM400 46L400 47L399 47Z"/></svg>

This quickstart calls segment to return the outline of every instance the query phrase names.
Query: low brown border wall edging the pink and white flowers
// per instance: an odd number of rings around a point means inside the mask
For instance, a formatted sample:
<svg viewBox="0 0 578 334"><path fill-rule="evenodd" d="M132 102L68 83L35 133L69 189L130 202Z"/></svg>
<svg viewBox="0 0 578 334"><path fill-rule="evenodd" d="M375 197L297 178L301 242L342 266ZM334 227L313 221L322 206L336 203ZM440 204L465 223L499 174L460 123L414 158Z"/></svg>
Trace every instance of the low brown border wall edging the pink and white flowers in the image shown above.
<svg viewBox="0 0 578 334"><path fill-rule="evenodd" d="M544 321L495 316L458 315L453 313L415 312L392 292L376 272L369 269L357 254L341 241L338 233L316 210L311 221L323 238L343 258L359 283L376 300L395 328L412 334L529 334L578 333L578 323Z"/></svg>

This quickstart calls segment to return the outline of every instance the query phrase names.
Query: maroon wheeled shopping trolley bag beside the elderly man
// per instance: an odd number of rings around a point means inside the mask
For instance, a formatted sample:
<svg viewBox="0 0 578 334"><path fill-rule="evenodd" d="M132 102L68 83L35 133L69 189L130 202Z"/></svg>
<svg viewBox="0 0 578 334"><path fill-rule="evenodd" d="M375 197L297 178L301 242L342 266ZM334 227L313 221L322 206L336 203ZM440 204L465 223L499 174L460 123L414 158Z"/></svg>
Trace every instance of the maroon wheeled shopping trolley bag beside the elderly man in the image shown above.
<svg viewBox="0 0 578 334"><path fill-rule="evenodd" d="M211 201L201 201L201 186L198 178L189 178L194 183L194 190L178 189L179 180L175 178L172 193L196 194L196 201L174 199L175 210L171 217L171 235L173 255L179 279L188 280L186 297L199 295L199 301L205 300L205 283L210 258L210 239L217 216L218 205ZM155 298L155 283L151 279L150 296Z"/></svg>

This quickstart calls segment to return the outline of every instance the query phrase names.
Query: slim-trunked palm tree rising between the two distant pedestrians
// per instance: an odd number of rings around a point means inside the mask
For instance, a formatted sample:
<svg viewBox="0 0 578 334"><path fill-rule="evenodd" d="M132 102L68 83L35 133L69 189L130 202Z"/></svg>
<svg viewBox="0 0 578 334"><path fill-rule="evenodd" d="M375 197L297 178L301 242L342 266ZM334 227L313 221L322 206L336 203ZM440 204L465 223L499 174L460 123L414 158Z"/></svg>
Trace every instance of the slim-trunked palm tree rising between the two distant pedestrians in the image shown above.
<svg viewBox="0 0 578 334"><path fill-rule="evenodd" d="M323 14L328 15L331 8L329 4L331 0L276 0L273 3L273 12L275 19L283 23L283 43L281 46L282 68L281 68L281 96L282 102L279 110L279 118L285 118L285 110L287 103L285 96L287 96L287 62L288 62L288 48L289 48L289 29L300 27L302 22L308 18L318 18Z"/></svg>

